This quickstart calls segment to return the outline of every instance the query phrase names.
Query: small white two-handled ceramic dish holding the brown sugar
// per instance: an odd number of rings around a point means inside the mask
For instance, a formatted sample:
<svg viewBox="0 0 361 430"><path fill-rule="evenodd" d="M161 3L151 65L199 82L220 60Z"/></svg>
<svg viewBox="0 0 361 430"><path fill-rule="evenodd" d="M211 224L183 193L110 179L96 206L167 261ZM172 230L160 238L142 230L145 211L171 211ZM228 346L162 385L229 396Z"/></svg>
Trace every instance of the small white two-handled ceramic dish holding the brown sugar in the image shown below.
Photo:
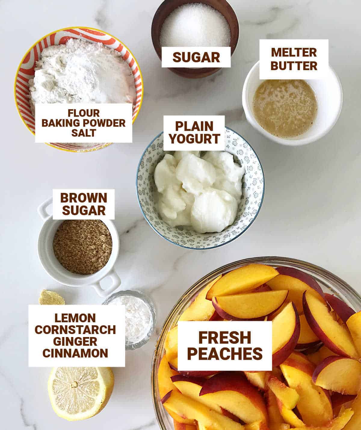
<svg viewBox="0 0 361 430"><path fill-rule="evenodd" d="M107 226L112 238L112 252L107 264L105 264L101 270L98 270L98 272L93 273L92 275L78 275L65 269L65 267L63 267L55 257L52 243L56 230L58 230L58 227L63 220L54 220L52 215L49 215L46 212L46 208L51 203L52 199L48 199L38 207L40 218L44 221L38 238L38 256L40 263L48 275L55 281L70 287L92 286L98 295L101 297L107 297L120 285L119 276L113 269L119 254L119 235L113 221L102 220ZM100 281L105 277L110 277L112 285L104 290L101 288Z"/></svg>

